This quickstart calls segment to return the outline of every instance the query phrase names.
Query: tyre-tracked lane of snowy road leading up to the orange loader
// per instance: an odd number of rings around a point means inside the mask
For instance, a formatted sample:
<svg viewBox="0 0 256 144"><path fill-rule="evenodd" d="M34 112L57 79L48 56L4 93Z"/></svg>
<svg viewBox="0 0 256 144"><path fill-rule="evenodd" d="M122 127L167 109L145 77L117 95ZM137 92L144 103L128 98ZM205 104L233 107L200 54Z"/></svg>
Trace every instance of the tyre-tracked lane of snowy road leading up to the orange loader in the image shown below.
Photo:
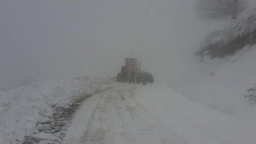
<svg viewBox="0 0 256 144"><path fill-rule="evenodd" d="M84 102L66 144L169 144L170 131L148 117L134 98L135 85L118 84ZM172 135L174 136L174 135ZM176 137L175 142L178 142Z"/></svg>

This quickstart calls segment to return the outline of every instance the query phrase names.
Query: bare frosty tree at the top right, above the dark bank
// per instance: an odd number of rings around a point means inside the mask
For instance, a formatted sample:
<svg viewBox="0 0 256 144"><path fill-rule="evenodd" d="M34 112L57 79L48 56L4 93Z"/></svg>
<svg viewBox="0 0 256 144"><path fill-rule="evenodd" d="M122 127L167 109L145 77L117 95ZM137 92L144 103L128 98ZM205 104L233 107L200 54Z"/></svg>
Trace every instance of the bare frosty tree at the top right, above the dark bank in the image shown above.
<svg viewBox="0 0 256 144"><path fill-rule="evenodd" d="M203 19L236 19L246 7L245 0L195 0L196 14Z"/></svg>

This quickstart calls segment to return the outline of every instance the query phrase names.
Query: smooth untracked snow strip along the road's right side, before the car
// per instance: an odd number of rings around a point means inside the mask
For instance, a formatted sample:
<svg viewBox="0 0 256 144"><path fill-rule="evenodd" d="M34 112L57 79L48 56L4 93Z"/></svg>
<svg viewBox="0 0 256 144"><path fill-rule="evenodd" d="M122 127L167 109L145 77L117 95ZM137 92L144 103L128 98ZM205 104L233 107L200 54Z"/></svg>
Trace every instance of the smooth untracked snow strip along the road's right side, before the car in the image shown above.
<svg viewBox="0 0 256 144"><path fill-rule="evenodd" d="M178 143L254 143L256 126L238 120L161 85L140 87L134 96L139 111L162 124ZM182 139L182 140L179 140ZM175 142L174 142L175 143Z"/></svg>

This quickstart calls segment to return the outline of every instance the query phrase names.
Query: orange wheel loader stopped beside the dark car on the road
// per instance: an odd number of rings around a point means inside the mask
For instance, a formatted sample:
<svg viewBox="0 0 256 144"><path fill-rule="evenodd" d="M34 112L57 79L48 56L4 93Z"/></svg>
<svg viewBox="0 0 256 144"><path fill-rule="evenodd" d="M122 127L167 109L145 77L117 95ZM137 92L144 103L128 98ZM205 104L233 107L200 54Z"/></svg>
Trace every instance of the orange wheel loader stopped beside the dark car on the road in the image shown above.
<svg viewBox="0 0 256 144"><path fill-rule="evenodd" d="M131 72L140 72L140 63L136 58L125 58L125 65L121 67L121 72L117 74L118 82L129 82Z"/></svg>

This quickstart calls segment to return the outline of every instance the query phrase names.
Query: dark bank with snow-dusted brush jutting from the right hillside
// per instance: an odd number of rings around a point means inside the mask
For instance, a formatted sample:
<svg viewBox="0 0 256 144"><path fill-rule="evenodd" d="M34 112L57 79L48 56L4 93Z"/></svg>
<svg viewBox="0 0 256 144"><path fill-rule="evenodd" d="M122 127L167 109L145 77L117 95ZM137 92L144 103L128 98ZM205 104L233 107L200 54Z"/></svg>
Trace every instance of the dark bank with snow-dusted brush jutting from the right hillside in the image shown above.
<svg viewBox="0 0 256 144"><path fill-rule="evenodd" d="M233 55L246 45L256 44L256 9L248 9L221 31L210 32L198 56L212 58Z"/></svg>

